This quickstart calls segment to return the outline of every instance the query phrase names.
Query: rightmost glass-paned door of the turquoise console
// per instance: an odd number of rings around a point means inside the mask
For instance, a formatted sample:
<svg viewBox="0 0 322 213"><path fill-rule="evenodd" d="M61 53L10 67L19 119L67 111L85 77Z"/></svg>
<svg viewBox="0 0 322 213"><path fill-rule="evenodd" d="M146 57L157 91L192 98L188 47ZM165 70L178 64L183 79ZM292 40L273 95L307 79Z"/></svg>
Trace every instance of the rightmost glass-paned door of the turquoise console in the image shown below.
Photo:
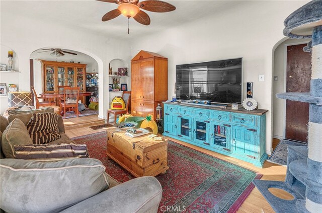
<svg viewBox="0 0 322 213"><path fill-rule="evenodd" d="M211 123L211 145L221 150L230 151L229 135L230 125Z"/></svg>

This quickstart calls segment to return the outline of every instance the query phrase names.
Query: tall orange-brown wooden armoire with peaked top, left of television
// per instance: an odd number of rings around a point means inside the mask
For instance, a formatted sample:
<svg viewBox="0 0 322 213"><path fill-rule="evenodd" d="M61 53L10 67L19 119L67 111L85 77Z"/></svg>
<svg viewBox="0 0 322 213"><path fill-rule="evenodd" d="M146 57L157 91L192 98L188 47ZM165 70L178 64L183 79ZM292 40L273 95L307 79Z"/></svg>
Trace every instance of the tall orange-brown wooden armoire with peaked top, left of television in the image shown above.
<svg viewBox="0 0 322 213"><path fill-rule="evenodd" d="M168 100L168 59L141 50L131 60L131 114L153 115L157 104Z"/></svg>

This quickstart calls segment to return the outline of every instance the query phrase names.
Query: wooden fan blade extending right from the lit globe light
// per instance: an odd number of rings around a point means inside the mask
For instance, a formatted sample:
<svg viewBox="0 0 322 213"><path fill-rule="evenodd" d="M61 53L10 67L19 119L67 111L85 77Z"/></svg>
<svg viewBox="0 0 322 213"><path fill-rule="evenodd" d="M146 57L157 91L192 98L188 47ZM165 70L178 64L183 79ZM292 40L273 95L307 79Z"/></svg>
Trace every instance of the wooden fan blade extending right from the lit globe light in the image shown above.
<svg viewBox="0 0 322 213"><path fill-rule="evenodd" d="M140 9L156 12L156 13L165 13L165 12L176 10L176 7L169 3L162 2L162 1L153 1L153 0L140 2L139 4L137 4L137 6Z"/></svg>

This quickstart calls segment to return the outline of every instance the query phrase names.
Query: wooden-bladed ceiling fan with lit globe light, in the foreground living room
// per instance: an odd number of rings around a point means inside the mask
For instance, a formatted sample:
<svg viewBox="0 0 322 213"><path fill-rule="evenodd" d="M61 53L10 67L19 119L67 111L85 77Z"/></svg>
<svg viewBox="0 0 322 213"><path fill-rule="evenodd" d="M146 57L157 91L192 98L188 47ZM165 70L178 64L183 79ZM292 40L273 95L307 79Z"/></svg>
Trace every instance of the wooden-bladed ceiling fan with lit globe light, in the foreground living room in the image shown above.
<svg viewBox="0 0 322 213"><path fill-rule="evenodd" d="M130 20L133 18L135 21L142 25L149 25L150 24L150 17L141 9L156 12L156 13L165 13L176 10L176 7L157 0L147 0L143 2L139 2L139 0L97 0L100 2L107 2L107 3L114 3L119 5L118 9L108 12L102 17L102 21L106 22L111 19L114 19L121 14ZM129 21L128 21L129 22ZM127 34L129 34L129 28Z"/></svg>

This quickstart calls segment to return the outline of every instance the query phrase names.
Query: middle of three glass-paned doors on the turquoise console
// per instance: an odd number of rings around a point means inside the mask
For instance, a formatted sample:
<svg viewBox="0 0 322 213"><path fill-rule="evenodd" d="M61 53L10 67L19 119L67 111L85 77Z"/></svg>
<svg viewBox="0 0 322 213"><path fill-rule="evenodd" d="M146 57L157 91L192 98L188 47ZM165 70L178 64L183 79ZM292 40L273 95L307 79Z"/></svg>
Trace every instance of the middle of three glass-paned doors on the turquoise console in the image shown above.
<svg viewBox="0 0 322 213"><path fill-rule="evenodd" d="M209 121L195 119L193 130L194 140L207 146L210 146L208 136L209 123Z"/></svg>

